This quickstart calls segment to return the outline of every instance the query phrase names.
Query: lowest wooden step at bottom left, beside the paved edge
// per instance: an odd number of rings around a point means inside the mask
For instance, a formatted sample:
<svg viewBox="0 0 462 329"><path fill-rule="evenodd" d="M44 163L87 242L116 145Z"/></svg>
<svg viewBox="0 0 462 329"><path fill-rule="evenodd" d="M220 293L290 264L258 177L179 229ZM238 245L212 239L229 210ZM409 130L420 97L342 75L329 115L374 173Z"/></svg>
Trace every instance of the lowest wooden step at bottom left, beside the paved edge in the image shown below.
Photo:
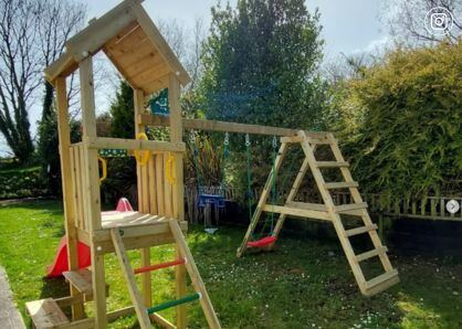
<svg viewBox="0 0 462 329"><path fill-rule="evenodd" d="M53 298L25 303L25 309L35 328L56 328L70 321Z"/></svg>

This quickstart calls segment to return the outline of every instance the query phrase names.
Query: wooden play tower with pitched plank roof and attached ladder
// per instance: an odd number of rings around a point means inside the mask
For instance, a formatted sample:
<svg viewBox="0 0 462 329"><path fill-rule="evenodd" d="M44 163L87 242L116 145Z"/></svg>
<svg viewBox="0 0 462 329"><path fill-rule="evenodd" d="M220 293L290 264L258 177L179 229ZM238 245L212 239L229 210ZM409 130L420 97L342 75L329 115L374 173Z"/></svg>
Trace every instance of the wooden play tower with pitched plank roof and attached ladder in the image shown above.
<svg viewBox="0 0 462 329"><path fill-rule="evenodd" d="M136 314L141 328L151 320L166 328L186 328L186 303L199 300L210 328L220 328L209 296L183 237L183 163L180 87L189 76L140 0L126 0L66 43L66 52L45 70L56 92L65 230L70 270L64 273L71 296L28 303L36 328L106 328L108 321ZM96 134L93 56L103 51L130 84L135 98L134 139L102 138ZM80 73L82 141L71 144L66 77ZM147 98L168 88L170 141L147 140L137 117ZM137 158L138 211L101 210L98 152L125 150ZM91 248L91 270L78 269L77 243ZM176 259L151 264L150 247L174 244ZM141 268L133 269L126 251L139 250ZM107 312L104 256L115 253L120 264L133 306ZM153 306L150 272L175 266L177 299ZM138 289L135 275L143 276ZM189 274L195 294L187 295ZM141 290L141 291L140 291ZM84 304L93 300L94 317L85 318ZM62 307L72 307L72 319ZM174 326L158 311L177 308Z"/></svg>

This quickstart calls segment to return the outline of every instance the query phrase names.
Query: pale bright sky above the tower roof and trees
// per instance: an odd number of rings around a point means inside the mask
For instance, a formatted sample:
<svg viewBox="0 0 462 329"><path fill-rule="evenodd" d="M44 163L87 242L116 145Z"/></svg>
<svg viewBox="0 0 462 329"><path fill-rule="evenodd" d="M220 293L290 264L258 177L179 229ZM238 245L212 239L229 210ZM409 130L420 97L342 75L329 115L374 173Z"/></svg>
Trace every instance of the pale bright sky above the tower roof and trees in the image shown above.
<svg viewBox="0 0 462 329"><path fill-rule="evenodd" d="M81 0L88 9L88 20L98 18L120 0ZM193 26L195 21L202 19L209 26L210 8L218 0L145 0L143 6L156 22L159 19L175 19L179 24ZM225 3L227 1L221 1ZM234 6L237 0L229 1ZM339 54L355 54L372 51L387 41L387 31L379 21L381 0L306 0L309 12L318 8L321 12L322 36L325 40L325 61L333 61ZM107 109L108 102L101 106ZM35 134L36 115L31 116ZM0 156L8 149L0 137Z"/></svg>

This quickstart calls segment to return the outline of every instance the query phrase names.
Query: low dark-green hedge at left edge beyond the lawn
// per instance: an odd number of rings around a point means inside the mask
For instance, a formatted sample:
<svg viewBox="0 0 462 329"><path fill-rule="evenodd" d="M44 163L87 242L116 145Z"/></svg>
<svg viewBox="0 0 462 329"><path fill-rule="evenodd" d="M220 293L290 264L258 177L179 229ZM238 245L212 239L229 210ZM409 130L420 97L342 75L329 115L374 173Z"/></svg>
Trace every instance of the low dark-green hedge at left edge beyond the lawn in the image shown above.
<svg viewBox="0 0 462 329"><path fill-rule="evenodd" d="M0 171L0 199L36 198L49 195L40 167Z"/></svg>

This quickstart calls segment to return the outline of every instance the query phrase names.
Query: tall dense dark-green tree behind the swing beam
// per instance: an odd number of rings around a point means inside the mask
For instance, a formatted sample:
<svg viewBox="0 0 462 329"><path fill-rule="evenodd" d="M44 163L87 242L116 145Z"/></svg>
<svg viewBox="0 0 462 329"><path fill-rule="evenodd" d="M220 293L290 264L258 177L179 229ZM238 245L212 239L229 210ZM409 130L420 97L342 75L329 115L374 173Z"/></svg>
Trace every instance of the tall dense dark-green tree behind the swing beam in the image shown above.
<svg viewBox="0 0 462 329"><path fill-rule="evenodd" d="M324 83L319 14L303 0L240 0L212 8L196 106L209 119L319 129ZM222 140L222 136L219 137ZM244 184L243 137L232 137L233 163ZM252 177L271 166L271 138L252 137ZM217 140L217 145L220 145ZM230 161L231 162L231 161Z"/></svg>

